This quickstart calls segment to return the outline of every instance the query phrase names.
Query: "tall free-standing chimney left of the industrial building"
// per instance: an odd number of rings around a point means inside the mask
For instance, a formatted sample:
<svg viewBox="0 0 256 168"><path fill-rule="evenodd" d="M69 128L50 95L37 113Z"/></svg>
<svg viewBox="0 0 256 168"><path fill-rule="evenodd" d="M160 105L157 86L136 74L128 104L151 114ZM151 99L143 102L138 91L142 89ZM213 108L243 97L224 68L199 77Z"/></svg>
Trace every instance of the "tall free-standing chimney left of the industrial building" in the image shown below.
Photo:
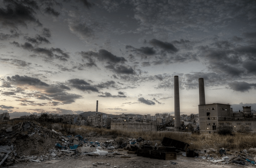
<svg viewBox="0 0 256 168"><path fill-rule="evenodd" d="M180 93L178 76L174 76L174 117L174 131L180 132Z"/></svg>

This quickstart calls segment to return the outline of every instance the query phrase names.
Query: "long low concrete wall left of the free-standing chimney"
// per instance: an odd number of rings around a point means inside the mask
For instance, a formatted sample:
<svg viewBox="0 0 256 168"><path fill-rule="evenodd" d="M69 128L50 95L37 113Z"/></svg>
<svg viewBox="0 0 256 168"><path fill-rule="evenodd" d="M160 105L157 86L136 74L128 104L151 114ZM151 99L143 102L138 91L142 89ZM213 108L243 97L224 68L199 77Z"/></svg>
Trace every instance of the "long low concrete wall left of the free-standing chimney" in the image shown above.
<svg viewBox="0 0 256 168"><path fill-rule="evenodd" d="M111 123L111 129L127 132L157 132L157 124L151 123Z"/></svg>

